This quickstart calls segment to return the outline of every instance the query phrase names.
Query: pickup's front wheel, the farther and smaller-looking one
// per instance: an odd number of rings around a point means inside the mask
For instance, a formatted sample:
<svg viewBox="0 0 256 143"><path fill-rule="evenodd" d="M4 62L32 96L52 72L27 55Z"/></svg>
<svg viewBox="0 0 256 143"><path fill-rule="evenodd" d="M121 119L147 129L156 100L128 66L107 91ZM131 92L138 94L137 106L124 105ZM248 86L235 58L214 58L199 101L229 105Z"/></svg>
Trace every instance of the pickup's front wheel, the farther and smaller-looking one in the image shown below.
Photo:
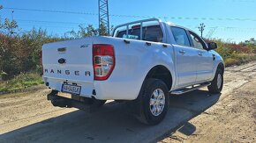
<svg viewBox="0 0 256 143"><path fill-rule="evenodd" d="M218 76L221 76L219 77L219 80L222 80L221 84L219 83L220 84L219 86L218 86ZM223 87L223 71L221 68L218 68L215 73L214 80L211 82L211 85L209 85L207 88L211 93L221 93L222 87Z"/></svg>

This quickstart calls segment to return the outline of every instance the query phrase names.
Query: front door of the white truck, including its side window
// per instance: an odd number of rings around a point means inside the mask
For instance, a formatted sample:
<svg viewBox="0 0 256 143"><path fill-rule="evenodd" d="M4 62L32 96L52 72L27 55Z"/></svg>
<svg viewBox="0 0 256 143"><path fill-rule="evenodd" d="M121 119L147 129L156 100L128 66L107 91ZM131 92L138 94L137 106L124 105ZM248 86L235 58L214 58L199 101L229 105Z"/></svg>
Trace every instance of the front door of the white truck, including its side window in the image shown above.
<svg viewBox="0 0 256 143"><path fill-rule="evenodd" d="M213 73L214 58L210 51L207 51L206 43L196 33L189 31L192 46L197 51L197 78L196 82L204 82L211 78Z"/></svg>

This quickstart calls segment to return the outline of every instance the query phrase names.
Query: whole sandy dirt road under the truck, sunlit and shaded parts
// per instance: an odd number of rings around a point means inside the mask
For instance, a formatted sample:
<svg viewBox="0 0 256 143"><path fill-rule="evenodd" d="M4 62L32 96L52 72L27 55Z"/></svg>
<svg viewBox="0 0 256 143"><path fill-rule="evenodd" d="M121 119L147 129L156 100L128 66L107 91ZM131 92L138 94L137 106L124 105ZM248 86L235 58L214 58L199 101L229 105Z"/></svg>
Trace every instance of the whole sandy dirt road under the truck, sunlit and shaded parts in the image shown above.
<svg viewBox="0 0 256 143"><path fill-rule="evenodd" d="M141 125L125 104L95 112L53 107L48 89L0 96L0 142L256 142L256 61L227 68L221 95L171 96L160 125Z"/></svg>

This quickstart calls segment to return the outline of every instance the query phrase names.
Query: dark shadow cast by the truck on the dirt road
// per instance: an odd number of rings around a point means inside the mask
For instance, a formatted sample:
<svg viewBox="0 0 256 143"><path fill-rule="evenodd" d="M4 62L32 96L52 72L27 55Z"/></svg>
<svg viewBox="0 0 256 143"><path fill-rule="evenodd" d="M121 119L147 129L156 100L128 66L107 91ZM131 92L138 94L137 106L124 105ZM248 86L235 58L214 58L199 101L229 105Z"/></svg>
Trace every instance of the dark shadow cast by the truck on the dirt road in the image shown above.
<svg viewBox="0 0 256 143"><path fill-rule="evenodd" d="M0 135L0 142L151 142L178 128L191 135L196 126L188 121L214 105L220 96L210 95L207 90L171 95L166 118L155 126L141 125L127 112L125 104L108 103L92 113L72 111L6 132Z"/></svg>

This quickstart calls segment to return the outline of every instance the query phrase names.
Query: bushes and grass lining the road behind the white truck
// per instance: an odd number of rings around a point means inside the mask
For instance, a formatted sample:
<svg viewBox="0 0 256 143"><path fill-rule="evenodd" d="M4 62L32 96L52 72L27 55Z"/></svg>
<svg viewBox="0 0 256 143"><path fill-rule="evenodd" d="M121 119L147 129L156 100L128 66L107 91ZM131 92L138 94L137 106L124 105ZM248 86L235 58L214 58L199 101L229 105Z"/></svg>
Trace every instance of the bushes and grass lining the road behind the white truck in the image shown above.
<svg viewBox="0 0 256 143"><path fill-rule="evenodd" d="M104 25L101 25L100 30L93 25L79 25L79 31L66 32L63 37L59 37L35 28L29 32L21 32L16 21L0 21L0 92L26 89L42 83L40 55L43 44L99 34L107 35ZM256 60L255 39L239 44L222 39L207 40L217 42L219 47L216 51L222 54L226 66Z"/></svg>

